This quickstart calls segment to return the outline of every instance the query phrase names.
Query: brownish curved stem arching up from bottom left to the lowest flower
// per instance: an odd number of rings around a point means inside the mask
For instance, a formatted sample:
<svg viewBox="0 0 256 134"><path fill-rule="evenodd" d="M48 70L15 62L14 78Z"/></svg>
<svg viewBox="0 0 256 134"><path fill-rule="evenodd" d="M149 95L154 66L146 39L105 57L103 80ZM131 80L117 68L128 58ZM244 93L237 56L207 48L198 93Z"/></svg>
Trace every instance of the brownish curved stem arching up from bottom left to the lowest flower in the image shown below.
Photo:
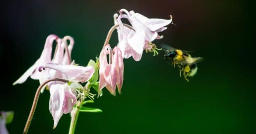
<svg viewBox="0 0 256 134"><path fill-rule="evenodd" d="M31 107L31 110L30 110L30 113L29 113L29 116L28 116L28 120L27 120L27 123L26 123L26 125L25 125L24 130L23 130L23 134L27 134L27 133L28 133L29 125L31 124L33 115L34 115L34 113L35 113L36 105L37 105L37 101L38 101L38 98L39 98L41 89L42 89L47 83L49 83L49 82L51 82L51 81L68 82L67 80L64 80L64 79L52 78L52 79L49 79L49 80L45 81L44 83L42 83L42 84L37 88L36 95L35 95L35 98L34 98L34 101L33 101L33 104L32 104L32 107Z"/></svg>

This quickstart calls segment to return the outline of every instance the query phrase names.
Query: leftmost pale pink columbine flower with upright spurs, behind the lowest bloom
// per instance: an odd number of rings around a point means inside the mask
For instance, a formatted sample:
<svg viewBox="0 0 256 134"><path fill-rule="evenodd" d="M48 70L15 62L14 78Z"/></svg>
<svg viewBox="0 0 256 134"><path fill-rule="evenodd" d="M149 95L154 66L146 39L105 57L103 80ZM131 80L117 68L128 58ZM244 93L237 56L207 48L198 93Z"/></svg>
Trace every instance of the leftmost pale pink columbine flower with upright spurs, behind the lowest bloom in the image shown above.
<svg viewBox="0 0 256 134"><path fill-rule="evenodd" d="M56 40L57 46L54 56L51 59L52 43L54 42L54 40ZM64 48L67 46L67 40L70 41L70 44L68 45L69 53L64 53ZM39 80L40 84L45 82L45 80L47 80L47 77L44 76L46 76L47 74L42 75L42 73L38 72L38 67L48 63L70 64L69 60L73 46L74 40L70 36L65 36L63 39L60 39L57 35L49 35L46 39L44 50L42 51L40 58L17 81L15 81L13 85L25 82L29 76L34 80ZM61 77L61 73L51 70L51 76Z"/></svg>

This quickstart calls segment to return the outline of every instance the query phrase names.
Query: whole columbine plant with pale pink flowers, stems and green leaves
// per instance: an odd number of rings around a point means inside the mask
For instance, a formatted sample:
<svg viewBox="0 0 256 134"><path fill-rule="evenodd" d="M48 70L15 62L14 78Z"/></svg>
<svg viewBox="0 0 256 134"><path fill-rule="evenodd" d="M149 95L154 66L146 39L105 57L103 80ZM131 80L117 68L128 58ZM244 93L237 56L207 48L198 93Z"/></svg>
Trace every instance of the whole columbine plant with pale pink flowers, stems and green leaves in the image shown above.
<svg viewBox="0 0 256 134"><path fill-rule="evenodd" d="M123 59L133 57L135 61L140 61L144 50L154 52L154 56L158 54L157 50L160 49L152 42L163 38L159 32L167 29L165 26L172 23L172 16L170 17L168 20L150 19L134 11L119 10L119 15L114 14L112 27L118 32L117 46L112 49L108 44L113 32L111 28L99 59L96 62L91 60L86 67L78 66L71 60L70 55L74 46L72 37L59 38L57 35L49 35L40 58L13 85L25 82L30 76L34 80L39 80L41 84L37 92L43 92L45 88L50 90L49 110L54 119L54 128L63 114L71 113L72 121L76 121L79 111L101 112L100 109L82 107L89 102L85 101L86 98L94 99L90 88L97 91L98 97L102 95L104 87L114 96L117 87L120 94L124 81ZM131 25L124 24L122 18L127 19ZM67 44L67 40L70 44ZM56 49L52 56L54 41ZM82 86L85 82L86 85ZM24 133L27 133L38 96L39 92L36 94ZM72 125L70 131L74 131Z"/></svg>

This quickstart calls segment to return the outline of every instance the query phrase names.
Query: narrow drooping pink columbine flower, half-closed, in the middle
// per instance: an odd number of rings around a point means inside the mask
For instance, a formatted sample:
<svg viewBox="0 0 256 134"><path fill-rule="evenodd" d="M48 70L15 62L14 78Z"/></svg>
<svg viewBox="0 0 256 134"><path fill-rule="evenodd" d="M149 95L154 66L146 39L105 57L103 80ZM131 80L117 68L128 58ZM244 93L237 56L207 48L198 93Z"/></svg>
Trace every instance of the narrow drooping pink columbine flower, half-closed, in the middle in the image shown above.
<svg viewBox="0 0 256 134"><path fill-rule="evenodd" d="M107 60L107 54L109 54L109 63ZM120 94L123 85L124 73L123 57L120 49L115 47L112 51L110 45L106 45L100 53L99 63L99 94L102 88L106 87L109 92L115 96L116 85Z"/></svg>

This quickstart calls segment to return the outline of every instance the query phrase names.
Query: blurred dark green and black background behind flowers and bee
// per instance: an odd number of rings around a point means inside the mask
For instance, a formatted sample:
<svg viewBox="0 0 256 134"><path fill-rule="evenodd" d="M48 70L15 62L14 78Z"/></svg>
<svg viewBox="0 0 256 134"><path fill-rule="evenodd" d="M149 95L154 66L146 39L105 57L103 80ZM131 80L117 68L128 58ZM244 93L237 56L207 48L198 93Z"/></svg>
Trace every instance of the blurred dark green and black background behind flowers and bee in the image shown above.
<svg viewBox="0 0 256 134"><path fill-rule="evenodd" d="M167 64L164 52L124 60L122 95L104 89L88 104L103 113L80 113L76 133L255 133L252 4L237 0L1 1L0 110L13 110L9 133L22 133L39 82L12 86L39 57L49 34L75 40L72 59L86 66L99 55L119 9L169 19L156 40L204 57L189 82ZM114 32L110 43L118 42ZM68 133L70 115L56 129L49 91L41 94L29 133Z"/></svg>

